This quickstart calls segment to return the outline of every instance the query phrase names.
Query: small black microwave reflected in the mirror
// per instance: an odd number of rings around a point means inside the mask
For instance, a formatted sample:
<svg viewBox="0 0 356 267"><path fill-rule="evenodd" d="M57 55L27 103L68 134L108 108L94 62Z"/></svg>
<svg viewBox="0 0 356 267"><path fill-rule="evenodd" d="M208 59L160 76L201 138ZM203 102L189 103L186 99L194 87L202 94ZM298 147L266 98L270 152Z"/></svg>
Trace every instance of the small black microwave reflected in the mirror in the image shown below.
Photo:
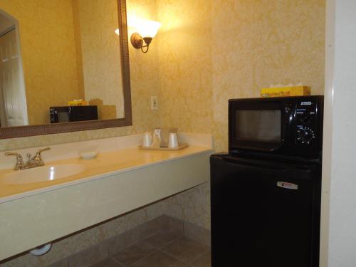
<svg viewBox="0 0 356 267"><path fill-rule="evenodd" d="M49 110L51 123L98 120L98 107L96 105L51 107Z"/></svg>

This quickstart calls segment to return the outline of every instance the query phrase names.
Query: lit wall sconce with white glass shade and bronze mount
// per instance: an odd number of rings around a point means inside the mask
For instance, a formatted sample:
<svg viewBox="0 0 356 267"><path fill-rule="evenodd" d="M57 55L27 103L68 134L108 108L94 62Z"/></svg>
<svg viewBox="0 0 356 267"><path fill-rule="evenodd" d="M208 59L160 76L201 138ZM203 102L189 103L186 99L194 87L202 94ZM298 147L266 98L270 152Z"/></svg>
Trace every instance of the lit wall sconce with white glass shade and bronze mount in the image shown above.
<svg viewBox="0 0 356 267"><path fill-rule="evenodd" d="M157 21L142 21L140 25L136 26L137 33L132 33L131 35L132 46L136 49L141 49L143 53L147 53L152 38L156 36L160 26L161 23ZM146 50L144 50L144 48L146 48Z"/></svg>

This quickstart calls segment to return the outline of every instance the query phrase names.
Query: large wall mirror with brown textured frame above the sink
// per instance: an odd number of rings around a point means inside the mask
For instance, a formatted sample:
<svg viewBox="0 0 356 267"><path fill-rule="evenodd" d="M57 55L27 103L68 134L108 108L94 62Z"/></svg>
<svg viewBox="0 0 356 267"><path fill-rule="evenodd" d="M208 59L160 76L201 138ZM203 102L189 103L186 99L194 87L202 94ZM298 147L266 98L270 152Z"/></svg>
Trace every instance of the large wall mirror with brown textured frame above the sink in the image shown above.
<svg viewBox="0 0 356 267"><path fill-rule="evenodd" d="M0 0L0 138L132 125L125 0Z"/></svg>

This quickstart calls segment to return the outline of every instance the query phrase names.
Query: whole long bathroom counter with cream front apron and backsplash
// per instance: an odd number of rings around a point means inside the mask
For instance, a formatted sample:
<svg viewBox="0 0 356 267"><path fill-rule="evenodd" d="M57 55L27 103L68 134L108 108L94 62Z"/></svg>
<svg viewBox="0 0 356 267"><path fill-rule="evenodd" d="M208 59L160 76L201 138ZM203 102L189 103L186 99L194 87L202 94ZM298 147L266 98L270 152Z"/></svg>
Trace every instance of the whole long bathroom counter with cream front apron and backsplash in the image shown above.
<svg viewBox="0 0 356 267"><path fill-rule="evenodd" d="M84 171L21 185L4 182L5 174L26 170L11 170L14 157L0 153L0 261L207 182L211 135L179 138L189 147L139 150L142 135L52 145L46 166L81 164ZM79 159L85 150L100 154Z"/></svg>

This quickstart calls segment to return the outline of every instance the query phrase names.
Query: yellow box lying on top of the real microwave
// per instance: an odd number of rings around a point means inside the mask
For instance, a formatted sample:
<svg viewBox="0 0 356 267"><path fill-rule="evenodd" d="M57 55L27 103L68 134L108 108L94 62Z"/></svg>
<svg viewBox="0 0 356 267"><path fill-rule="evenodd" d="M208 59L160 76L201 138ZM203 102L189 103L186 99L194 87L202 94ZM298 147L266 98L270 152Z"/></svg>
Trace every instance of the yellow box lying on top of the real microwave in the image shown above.
<svg viewBox="0 0 356 267"><path fill-rule="evenodd" d="M278 96L283 97L283 96L310 95L310 93L311 93L310 87L305 85L262 88L261 98L274 98Z"/></svg>

